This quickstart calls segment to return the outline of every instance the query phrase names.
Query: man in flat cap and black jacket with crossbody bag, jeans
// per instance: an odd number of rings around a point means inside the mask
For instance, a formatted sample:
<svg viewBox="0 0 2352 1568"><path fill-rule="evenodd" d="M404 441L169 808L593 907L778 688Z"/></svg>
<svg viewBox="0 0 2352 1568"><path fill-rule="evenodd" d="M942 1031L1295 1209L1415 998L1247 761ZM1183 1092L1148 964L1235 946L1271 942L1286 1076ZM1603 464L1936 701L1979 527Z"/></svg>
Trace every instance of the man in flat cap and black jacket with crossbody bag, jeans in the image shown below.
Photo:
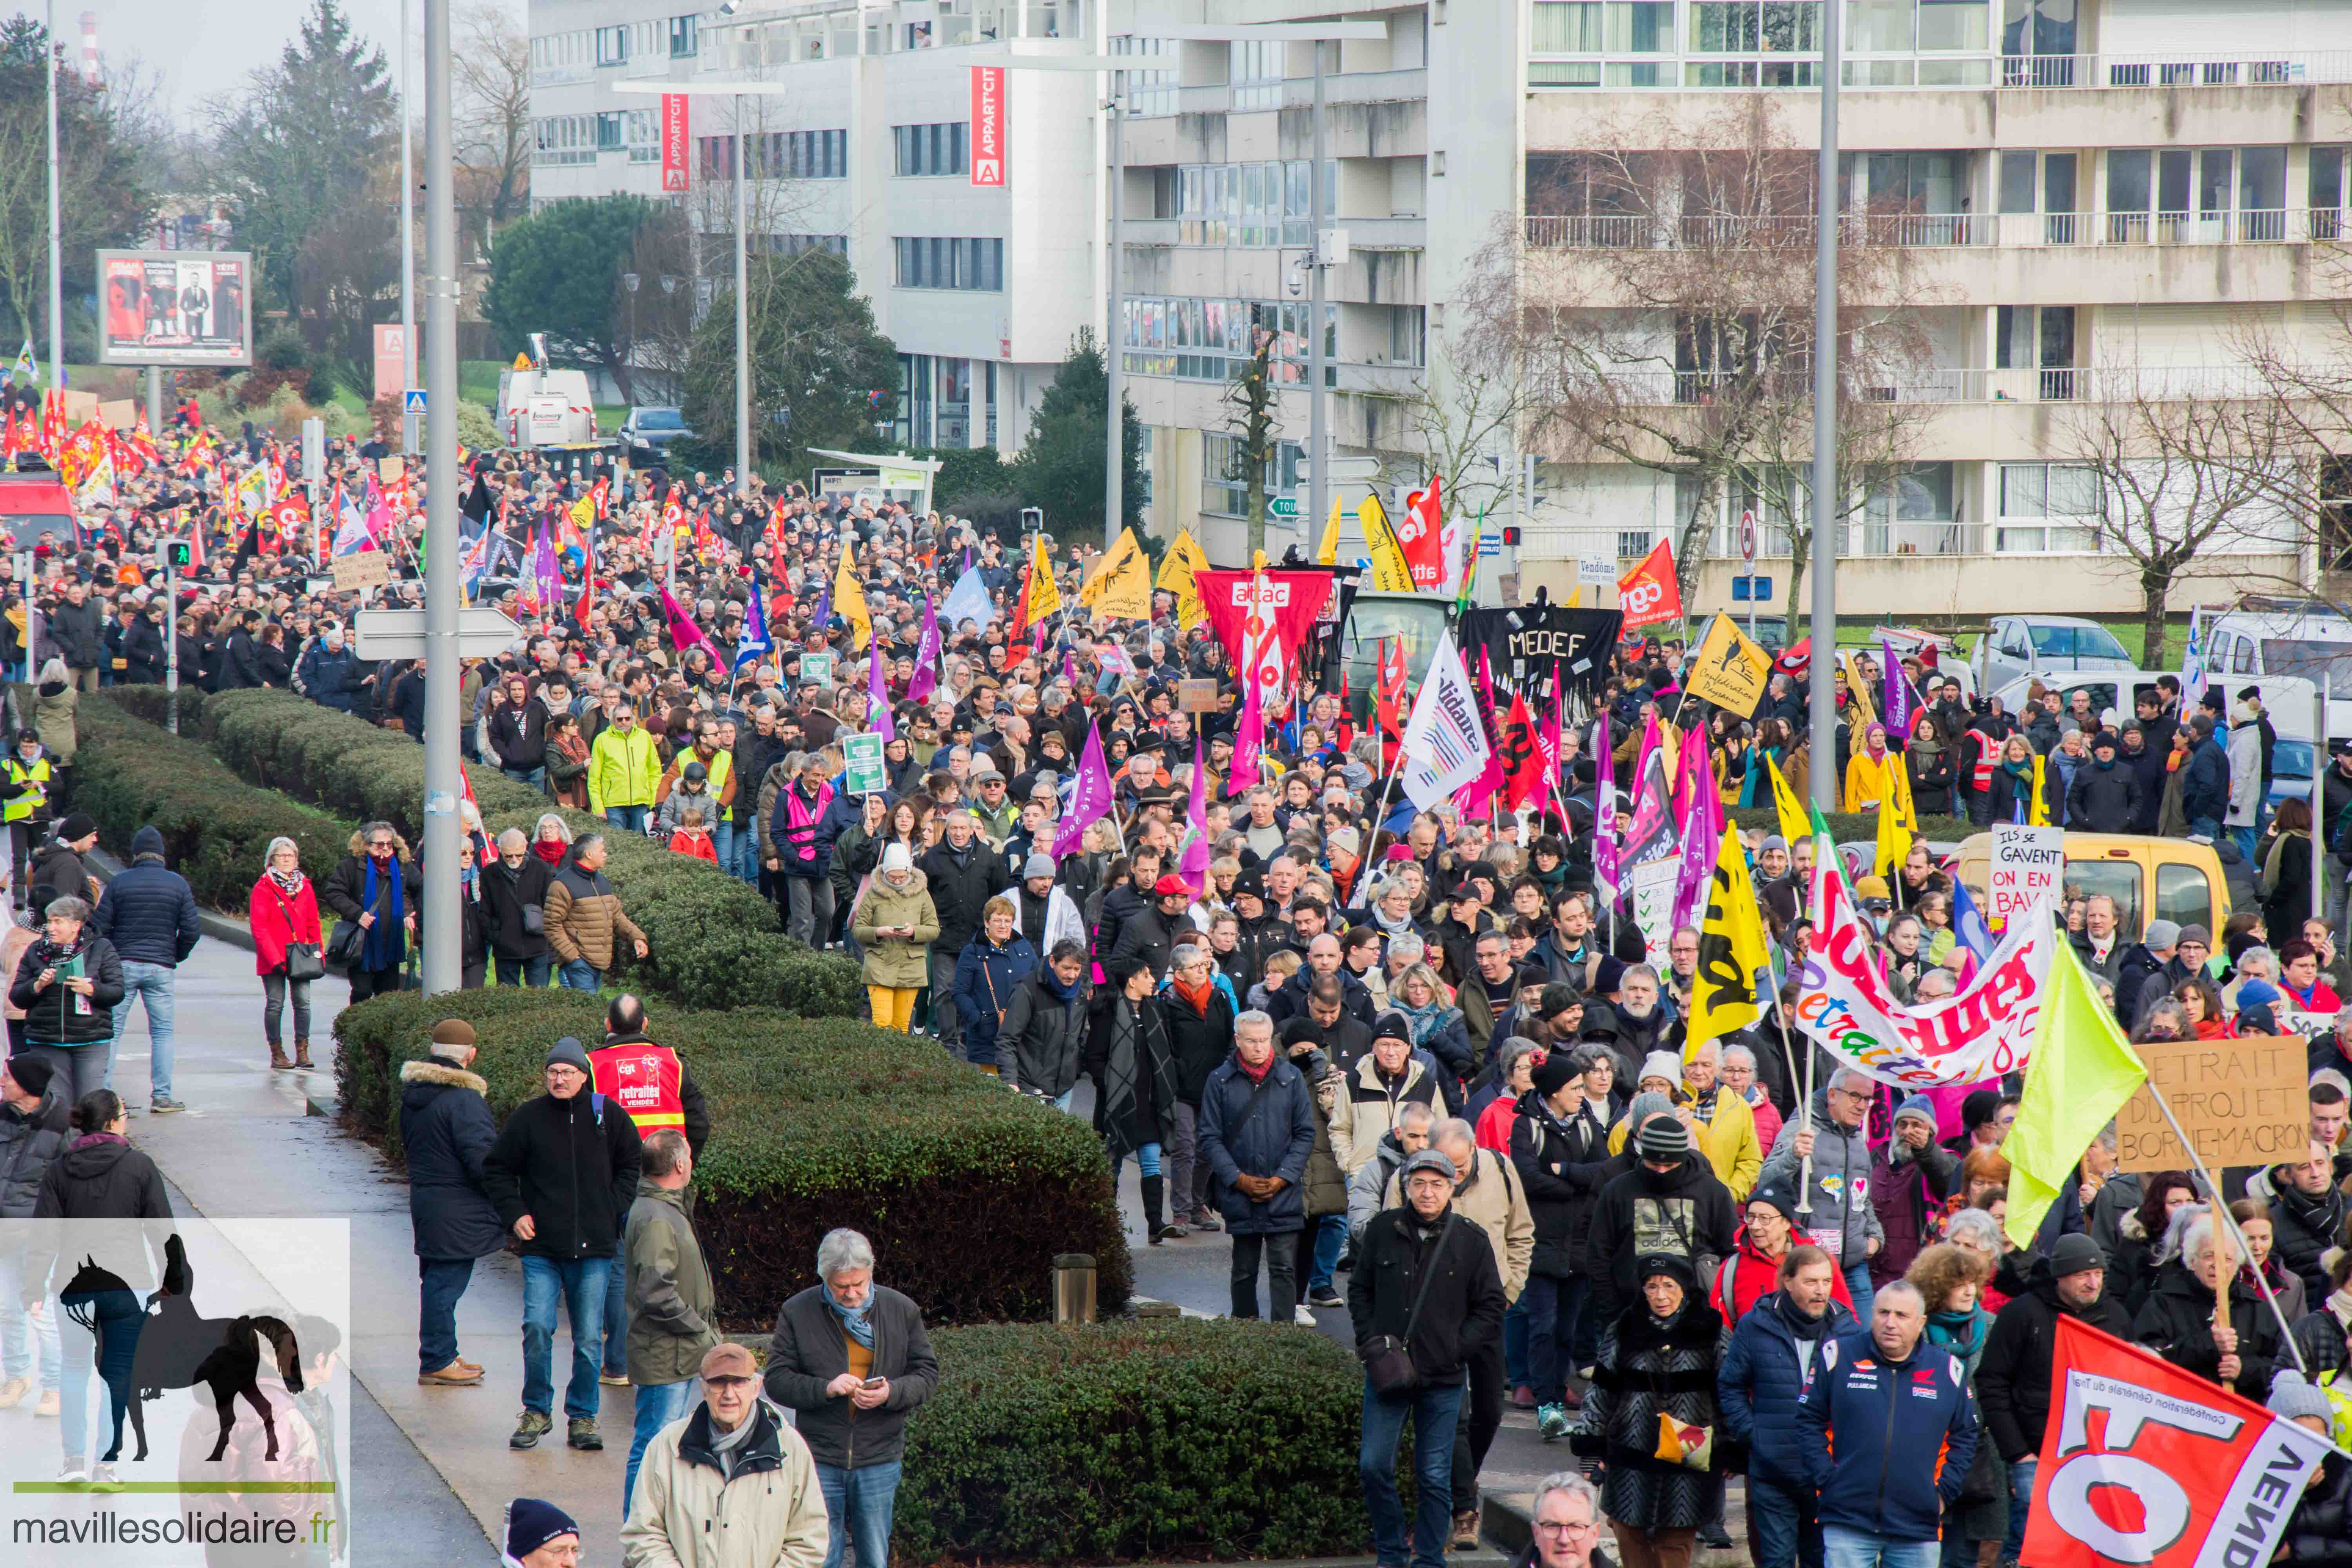
<svg viewBox="0 0 2352 1568"><path fill-rule="evenodd" d="M1442 1568L1454 1523L1454 1434L1463 1373L1503 1340L1503 1272L1486 1232L1454 1213L1454 1161L1421 1150L1404 1161L1404 1204L1376 1213L1348 1274L1348 1316L1357 1354L1397 1340L1414 1385L1381 1394L1364 1375L1364 1432L1357 1472L1381 1563ZM1418 1312L1416 1307L1418 1298ZM1397 1495L1397 1441L1414 1418L1414 1530L1406 1542Z"/></svg>

